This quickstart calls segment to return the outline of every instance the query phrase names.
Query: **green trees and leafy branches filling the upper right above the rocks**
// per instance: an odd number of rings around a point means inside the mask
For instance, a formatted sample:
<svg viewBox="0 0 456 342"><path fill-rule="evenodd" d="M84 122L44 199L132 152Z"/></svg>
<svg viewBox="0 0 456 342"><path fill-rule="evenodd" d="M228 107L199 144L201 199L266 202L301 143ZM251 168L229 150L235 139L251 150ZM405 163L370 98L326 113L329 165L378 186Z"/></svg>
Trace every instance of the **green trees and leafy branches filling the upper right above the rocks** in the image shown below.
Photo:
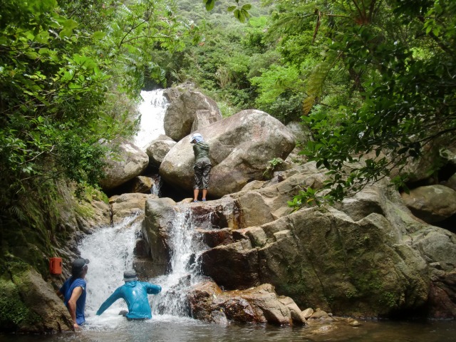
<svg viewBox="0 0 456 342"><path fill-rule="evenodd" d="M331 175L323 189L303 189L291 205L341 200L423 151L436 155L426 170L435 172L440 147L455 144L455 1L261 3L270 12L249 20L239 40L244 78L229 85L251 97L236 105L284 123L301 118L313 133L302 153ZM231 76L232 51L217 69ZM407 180L402 173L393 185L407 191Z"/></svg>

